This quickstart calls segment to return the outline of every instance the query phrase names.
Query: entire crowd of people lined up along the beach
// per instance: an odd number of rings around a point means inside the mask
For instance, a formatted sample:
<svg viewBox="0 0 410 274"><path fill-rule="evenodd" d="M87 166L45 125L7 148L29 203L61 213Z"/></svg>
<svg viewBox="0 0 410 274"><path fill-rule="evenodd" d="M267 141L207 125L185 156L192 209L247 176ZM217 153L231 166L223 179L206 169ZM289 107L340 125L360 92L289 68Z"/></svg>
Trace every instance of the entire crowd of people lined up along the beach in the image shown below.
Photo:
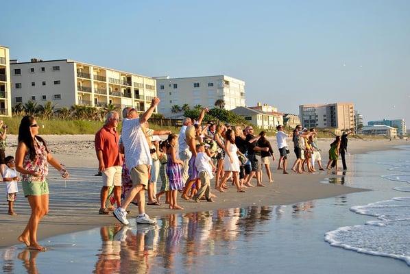
<svg viewBox="0 0 410 274"><path fill-rule="evenodd" d="M102 174L103 186L100 192L99 214L112 214L123 225L128 225L127 214L130 203L138 206L136 223L154 224L145 213L145 190L150 206L160 206L160 198L171 210L182 210L181 199L213 202L216 195L211 192L210 180L215 177L213 188L226 192L232 186L237 192L246 192L254 186L263 187L263 167L269 183L274 182L270 162L276 160L274 150L266 132L254 133L250 125L232 125L209 121L202 125L208 109L200 112L197 120L186 118L180 134L166 130L149 128L148 120L160 99L152 99L148 110L138 114L135 108L125 108L122 113L121 137L117 132L119 113L108 112L104 126L95 134L95 151ZM3 125L0 121L0 126ZM60 171L63 178L69 173L56 158L53 158L46 142L38 136L38 125L34 116L24 116L19 126L19 145L16 158L5 157L5 131L0 133L0 165L3 181L6 182L9 214L15 214L13 202L18 192L17 182L21 181L25 197L32 208L32 214L19 240L29 249L44 250L36 240L38 223L49 210L49 189L47 175L49 164ZM291 134L278 125L276 140L280 158L278 169L287 172L289 147L287 138L292 138L296 161L292 171L296 173L324 170L315 129L302 129L298 125ZM330 145L327 169L338 169L337 160L341 155L343 169L347 169L344 158L347 151L347 136L337 136ZM165 140L159 136L167 135ZM3 149L3 152L2 152ZM21 174L21 178L17 175ZM156 192L156 183L162 186ZM256 185L252 184L256 179ZM222 195L222 194L221 194ZM117 208L114 205L117 204Z"/></svg>

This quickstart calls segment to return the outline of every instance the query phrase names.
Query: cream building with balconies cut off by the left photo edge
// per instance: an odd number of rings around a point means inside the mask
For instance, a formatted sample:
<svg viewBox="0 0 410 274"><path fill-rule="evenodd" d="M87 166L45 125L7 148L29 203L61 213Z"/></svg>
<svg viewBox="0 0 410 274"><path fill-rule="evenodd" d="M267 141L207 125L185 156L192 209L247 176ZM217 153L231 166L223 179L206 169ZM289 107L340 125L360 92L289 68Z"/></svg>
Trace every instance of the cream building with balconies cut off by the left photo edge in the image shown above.
<svg viewBox="0 0 410 274"><path fill-rule="evenodd" d="M0 116L12 116L9 56L8 47L0 46Z"/></svg>

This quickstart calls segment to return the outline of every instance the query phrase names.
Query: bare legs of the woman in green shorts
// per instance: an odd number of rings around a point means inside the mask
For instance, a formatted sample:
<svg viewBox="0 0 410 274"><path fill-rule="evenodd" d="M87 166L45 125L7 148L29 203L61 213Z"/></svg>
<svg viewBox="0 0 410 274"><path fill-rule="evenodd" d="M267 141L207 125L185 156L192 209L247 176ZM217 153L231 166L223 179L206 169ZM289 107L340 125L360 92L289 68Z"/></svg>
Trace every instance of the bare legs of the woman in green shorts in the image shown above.
<svg viewBox="0 0 410 274"><path fill-rule="evenodd" d="M35 249L39 251L45 251L45 247L38 245L37 242L37 229L38 223L49 210L49 195L40 196L28 196L30 208L32 208L32 214L30 219L23 230L23 233L17 238L20 242L25 243L29 249Z"/></svg>

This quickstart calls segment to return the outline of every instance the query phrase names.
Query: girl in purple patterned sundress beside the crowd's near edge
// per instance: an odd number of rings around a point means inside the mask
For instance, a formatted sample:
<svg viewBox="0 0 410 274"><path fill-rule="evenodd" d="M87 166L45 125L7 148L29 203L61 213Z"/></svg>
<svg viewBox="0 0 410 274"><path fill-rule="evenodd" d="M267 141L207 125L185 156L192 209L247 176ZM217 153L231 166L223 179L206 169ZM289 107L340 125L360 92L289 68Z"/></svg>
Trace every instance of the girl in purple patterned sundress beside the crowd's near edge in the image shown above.
<svg viewBox="0 0 410 274"><path fill-rule="evenodd" d="M169 134L167 139L167 176L169 179L169 189L171 190L171 201L169 208L171 210L183 210L184 208L178 206L177 192L182 190L184 184L182 182L182 175L180 171L180 164L184 164L181 160L176 158L176 142L178 136L176 134Z"/></svg>

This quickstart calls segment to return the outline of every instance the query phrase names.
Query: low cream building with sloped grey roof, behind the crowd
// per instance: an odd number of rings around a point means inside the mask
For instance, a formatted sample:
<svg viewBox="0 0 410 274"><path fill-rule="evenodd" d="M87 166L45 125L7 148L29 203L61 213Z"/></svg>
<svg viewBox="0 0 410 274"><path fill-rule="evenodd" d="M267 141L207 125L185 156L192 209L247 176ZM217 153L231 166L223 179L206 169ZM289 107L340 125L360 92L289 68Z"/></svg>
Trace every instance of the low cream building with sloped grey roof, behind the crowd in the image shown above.
<svg viewBox="0 0 410 274"><path fill-rule="evenodd" d="M234 114L243 116L254 127L261 129L275 129L279 125L277 117L269 112L254 110L253 108L237 107L231 110Z"/></svg>

